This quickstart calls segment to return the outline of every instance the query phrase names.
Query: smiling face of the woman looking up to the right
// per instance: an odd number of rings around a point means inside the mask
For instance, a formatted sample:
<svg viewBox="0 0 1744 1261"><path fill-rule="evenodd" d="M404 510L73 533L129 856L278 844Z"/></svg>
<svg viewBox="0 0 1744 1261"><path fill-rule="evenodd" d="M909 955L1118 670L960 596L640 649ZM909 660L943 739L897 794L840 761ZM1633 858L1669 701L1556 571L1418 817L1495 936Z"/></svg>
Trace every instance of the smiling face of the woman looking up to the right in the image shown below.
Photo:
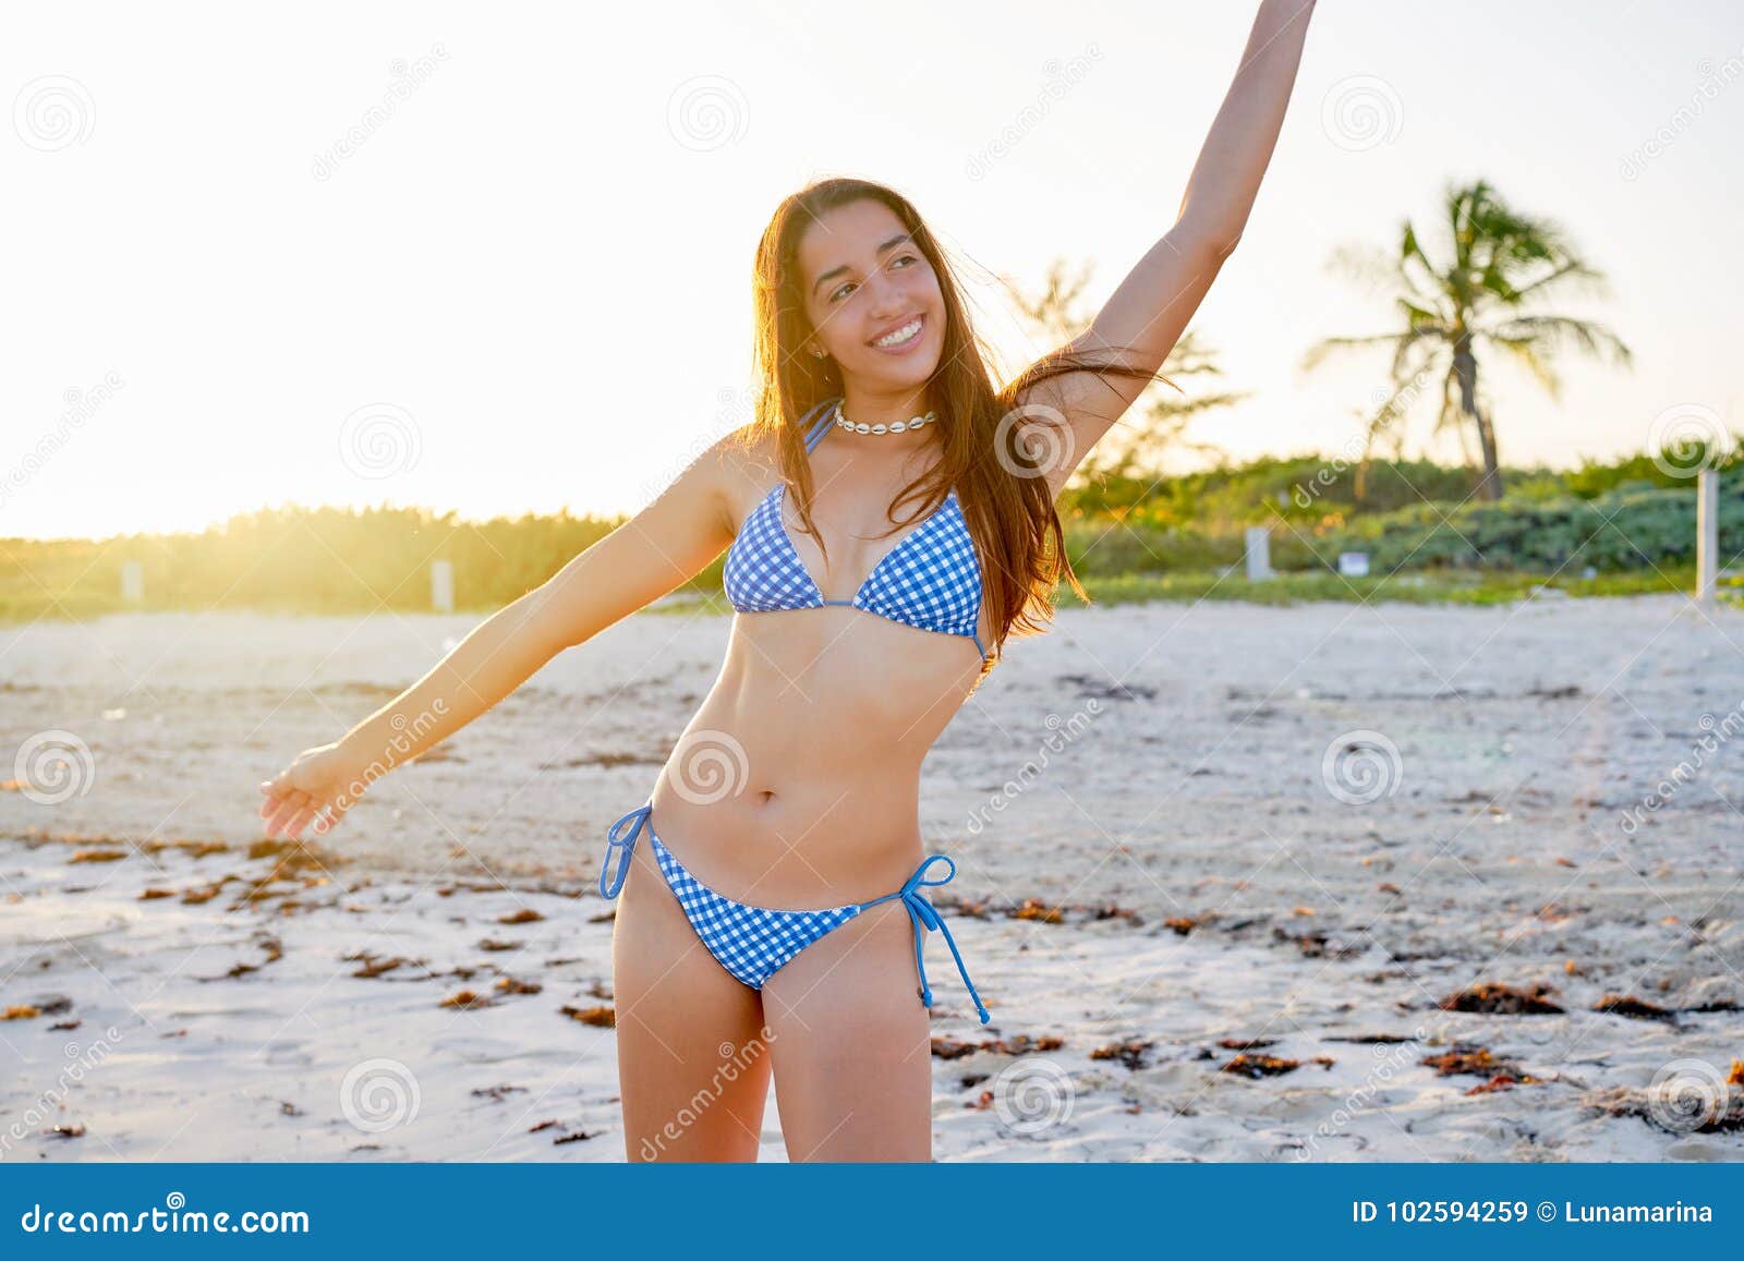
<svg viewBox="0 0 1744 1261"><path fill-rule="evenodd" d="M799 241L816 345L872 389L924 385L945 344L945 300L926 255L881 201L825 211Z"/></svg>

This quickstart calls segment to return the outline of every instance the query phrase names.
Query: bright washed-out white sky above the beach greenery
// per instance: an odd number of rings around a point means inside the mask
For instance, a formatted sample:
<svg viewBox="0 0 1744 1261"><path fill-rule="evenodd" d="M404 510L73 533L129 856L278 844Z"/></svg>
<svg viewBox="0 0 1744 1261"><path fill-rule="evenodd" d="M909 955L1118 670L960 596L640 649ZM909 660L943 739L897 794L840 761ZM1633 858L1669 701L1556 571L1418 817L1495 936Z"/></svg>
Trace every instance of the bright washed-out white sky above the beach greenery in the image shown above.
<svg viewBox="0 0 1744 1261"><path fill-rule="evenodd" d="M1066 256L1095 262L1092 305L1118 284L1175 215L1252 12L19 7L0 42L0 535L286 502L633 511L748 419L757 237L825 174L917 204L1015 368L1046 347L994 277L1034 288ZM1636 352L1632 371L1566 358L1561 403L1498 370L1505 460L1639 450L1692 405L1744 429L1741 124L1727 0L1327 0L1195 321L1249 398L1193 436L1341 450L1385 366L1298 363L1392 317L1325 262L1392 246L1477 176L1564 225L1611 293L1563 309Z"/></svg>

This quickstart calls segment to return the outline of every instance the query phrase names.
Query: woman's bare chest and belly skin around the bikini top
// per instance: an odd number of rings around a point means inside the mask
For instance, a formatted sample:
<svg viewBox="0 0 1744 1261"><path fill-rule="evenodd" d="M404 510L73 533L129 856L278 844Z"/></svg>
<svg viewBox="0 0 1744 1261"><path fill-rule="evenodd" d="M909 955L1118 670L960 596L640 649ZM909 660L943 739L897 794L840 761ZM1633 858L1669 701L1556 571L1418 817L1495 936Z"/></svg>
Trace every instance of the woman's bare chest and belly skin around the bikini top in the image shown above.
<svg viewBox="0 0 1744 1261"><path fill-rule="evenodd" d="M924 464L886 452L813 453L816 542L783 502L794 548L827 600L849 600L919 520L886 511ZM780 481L734 492L743 523ZM741 494L743 492L743 494ZM788 497L783 497L788 499ZM989 644L982 610L982 644ZM654 787L654 830L691 872L739 902L814 909L895 891L921 858L921 762L975 687L961 635L828 605L741 612L726 661Z"/></svg>

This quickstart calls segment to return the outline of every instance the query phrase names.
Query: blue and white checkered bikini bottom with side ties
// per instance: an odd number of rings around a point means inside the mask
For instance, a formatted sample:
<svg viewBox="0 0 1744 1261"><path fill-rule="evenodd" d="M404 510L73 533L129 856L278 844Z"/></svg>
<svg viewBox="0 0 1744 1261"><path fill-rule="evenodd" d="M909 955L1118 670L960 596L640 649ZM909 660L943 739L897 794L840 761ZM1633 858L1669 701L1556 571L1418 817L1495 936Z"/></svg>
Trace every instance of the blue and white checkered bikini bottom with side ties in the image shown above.
<svg viewBox="0 0 1744 1261"><path fill-rule="evenodd" d="M828 907L823 910L773 910L726 898L691 876L671 849L654 835L654 825L649 823L652 809L652 802L638 806L607 830L605 865L600 867L600 896L616 898L617 891L624 888L624 879L630 876L630 855L635 849L637 837L647 832L649 842L654 846L654 858L666 876L666 884L678 898L678 905L684 907L684 914L689 917L696 935L703 938L703 945L708 947L708 952L715 956L722 968L752 989L762 989L764 982L800 951L835 931L862 910L870 910L881 902L900 898L909 909L909 919L914 924L914 968L921 977L921 1005L933 1005L933 991L926 984L926 963L921 958L921 947L924 933L937 928L944 933L945 945L950 947L950 956L957 961L957 971L963 975L963 984L968 987L970 998L975 999L980 1022L987 1024L992 1019L982 1005L980 994L975 992L975 982L970 980L968 968L963 966L963 954L950 937L950 928L938 917L938 910L926 900L926 895L921 893L923 886L949 884L957 874L957 865L945 855L928 856L914 869L914 876L900 890L886 893L882 898L851 902L844 907ZM614 849L617 851L616 872L612 872ZM935 862L947 863L950 872L942 879L930 881L926 879L926 869ZM609 876L610 881L607 881Z"/></svg>

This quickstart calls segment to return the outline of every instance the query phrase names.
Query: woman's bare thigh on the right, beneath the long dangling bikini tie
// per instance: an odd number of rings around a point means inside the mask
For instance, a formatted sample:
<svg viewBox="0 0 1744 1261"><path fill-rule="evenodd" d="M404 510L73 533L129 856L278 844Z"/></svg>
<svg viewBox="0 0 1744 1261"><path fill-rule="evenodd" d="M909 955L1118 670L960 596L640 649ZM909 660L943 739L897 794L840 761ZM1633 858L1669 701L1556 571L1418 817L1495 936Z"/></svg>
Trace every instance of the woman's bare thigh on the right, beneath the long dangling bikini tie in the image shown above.
<svg viewBox="0 0 1744 1261"><path fill-rule="evenodd" d="M788 1160L933 1158L931 1031L917 991L900 900L813 942L764 984Z"/></svg>

